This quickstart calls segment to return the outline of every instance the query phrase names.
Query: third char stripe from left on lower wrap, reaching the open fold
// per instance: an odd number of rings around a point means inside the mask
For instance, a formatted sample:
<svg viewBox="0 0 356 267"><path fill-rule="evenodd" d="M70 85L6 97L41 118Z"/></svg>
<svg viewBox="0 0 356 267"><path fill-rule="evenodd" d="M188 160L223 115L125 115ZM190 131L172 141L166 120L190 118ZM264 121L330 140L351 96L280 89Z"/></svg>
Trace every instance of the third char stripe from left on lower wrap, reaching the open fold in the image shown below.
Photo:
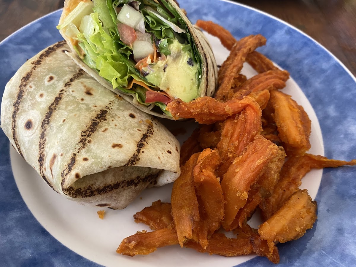
<svg viewBox="0 0 356 267"><path fill-rule="evenodd" d="M108 113L108 110L110 109L111 101L109 105L105 106L105 109L101 109L98 114L92 119L90 119L90 125L87 127L86 130L82 131L82 138L80 138L79 142L77 145L79 145L77 152L72 154L72 157L70 157L70 162L68 163L67 167L62 171L61 176L62 176L62 189L64 189L64 183L66 181L66 177L68 174L72 171L73 166L75 162L77 161L77 155L78 153L85 148L87 145L88 139L91 137L91 135L97 130L98 125L101 121L106 121L106 114Z"/></svg>

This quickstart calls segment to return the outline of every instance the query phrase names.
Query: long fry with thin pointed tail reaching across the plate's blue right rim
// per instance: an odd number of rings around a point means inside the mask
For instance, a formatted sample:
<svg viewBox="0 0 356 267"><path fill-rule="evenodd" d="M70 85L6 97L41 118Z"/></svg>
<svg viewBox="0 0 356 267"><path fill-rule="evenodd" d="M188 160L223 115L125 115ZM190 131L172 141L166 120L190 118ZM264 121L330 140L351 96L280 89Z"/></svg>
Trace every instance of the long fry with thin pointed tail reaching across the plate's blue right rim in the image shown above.
<svg viewBox="0 0 356 267"><path fill-rule="evenodd" d="M356 160L338 161L312 154L290 157L282 167L281 178L273 189L272 195L260 204L262 220L266 221L282 207L283 203L298 190L302 178L311 169L336 168L343 165L356 165Z"/></svg>

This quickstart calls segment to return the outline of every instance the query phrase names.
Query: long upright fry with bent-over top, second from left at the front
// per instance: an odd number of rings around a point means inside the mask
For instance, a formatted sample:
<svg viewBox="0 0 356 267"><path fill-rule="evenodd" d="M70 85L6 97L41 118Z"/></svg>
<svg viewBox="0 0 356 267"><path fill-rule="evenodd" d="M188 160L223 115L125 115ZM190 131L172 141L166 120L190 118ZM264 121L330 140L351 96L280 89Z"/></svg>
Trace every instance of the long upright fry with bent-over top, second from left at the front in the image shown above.
<svg viewBox="0 0 356 267"><path fill-rule="evenodd" d="M219 164L218 151L206 148L200 153L198 163L193 170L200 211L199 227L195 230L203 248L206 248L208 237L220 228L224 218L223 190L219 178L214 174Z"/></svg>

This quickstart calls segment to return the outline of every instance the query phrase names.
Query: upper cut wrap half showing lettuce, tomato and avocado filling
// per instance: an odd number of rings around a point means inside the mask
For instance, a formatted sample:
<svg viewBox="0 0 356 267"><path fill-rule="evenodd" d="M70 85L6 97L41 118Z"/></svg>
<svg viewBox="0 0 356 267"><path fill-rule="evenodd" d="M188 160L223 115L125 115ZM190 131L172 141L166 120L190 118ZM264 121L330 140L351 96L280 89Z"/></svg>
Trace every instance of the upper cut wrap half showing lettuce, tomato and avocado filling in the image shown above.
<svg viewBox="0 0 356 267"><path fill-rule="evenodd" d="M172 119L173 99L214 93L211 47L173 0L66 0L57 28L80 67L147 113Z"/></svg>

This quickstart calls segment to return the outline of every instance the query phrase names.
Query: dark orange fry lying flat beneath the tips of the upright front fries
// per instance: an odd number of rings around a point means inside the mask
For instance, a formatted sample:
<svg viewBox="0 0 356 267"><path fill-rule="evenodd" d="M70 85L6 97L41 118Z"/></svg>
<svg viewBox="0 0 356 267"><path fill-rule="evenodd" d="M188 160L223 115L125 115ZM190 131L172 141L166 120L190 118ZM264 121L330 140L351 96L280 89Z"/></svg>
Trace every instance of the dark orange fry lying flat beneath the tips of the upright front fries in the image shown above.
<svg viewBox="0 0 356 267"><path fill-rule="evenodd" d="M248 255L253 252L250 237L247 235L237 238L226 237L223 233L215 233L209 238L209 245L204 250L198 243L188 241L186 247L204 253L208 252L225 257Z"/></svg>

